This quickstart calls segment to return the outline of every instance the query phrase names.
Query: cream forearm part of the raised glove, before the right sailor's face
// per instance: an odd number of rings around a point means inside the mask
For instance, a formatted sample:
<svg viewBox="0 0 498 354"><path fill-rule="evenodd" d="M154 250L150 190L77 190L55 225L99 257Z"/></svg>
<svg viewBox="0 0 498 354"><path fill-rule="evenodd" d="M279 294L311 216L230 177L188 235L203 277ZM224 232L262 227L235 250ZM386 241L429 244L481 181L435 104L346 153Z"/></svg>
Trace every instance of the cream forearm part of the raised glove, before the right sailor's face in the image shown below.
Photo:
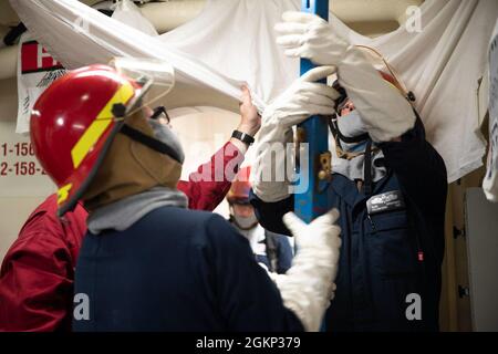
<svg viewBox="0 0 498 354"><path fill-rule="evenodd" d="M338 77L375 143L391 142L414 127L416 116L409 102L381 76L360 49L347 50Z"/></svg>

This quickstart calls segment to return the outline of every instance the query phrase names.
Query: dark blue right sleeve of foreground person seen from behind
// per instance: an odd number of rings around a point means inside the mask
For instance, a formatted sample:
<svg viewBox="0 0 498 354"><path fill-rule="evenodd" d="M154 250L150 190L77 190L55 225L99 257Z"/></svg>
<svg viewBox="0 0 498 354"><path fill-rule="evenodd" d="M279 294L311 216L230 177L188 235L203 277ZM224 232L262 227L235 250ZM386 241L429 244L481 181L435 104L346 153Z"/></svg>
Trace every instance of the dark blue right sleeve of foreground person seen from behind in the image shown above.
<svg viewBox="0 0 498 354"><path fill-rule="evenodd" d="M303 326L283 306L280 291L259 266L249 242L225 219L209 219L215 293L229 331L300 332Z"/></svg>

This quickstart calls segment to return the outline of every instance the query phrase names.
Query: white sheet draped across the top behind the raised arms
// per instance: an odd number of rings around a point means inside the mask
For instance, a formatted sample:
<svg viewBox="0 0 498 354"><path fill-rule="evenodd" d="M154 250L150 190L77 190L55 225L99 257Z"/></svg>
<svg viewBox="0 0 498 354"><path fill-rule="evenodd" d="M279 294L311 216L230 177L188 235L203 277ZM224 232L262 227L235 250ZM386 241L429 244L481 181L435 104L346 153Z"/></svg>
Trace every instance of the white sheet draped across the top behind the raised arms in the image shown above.
<svg viewBox="0 0 498 354"><path fill-rule="evenodd" d="M299 60L283 56L273 25L300 0L211 0L193 21L151 37L72 0L10 0L18 14L64 66L106 62L112 56L168 61L177 83L170 107L211 105L237 111L240 83L262 108L299 74ZM333 1L332 7L333 9ZM405 25L375 39L330 14L336 32L353 44L380 51L416 97L427 138L445 159L449 181L483 164L477 135L478 79L498 17L495 0L426 0Z"/></svg>

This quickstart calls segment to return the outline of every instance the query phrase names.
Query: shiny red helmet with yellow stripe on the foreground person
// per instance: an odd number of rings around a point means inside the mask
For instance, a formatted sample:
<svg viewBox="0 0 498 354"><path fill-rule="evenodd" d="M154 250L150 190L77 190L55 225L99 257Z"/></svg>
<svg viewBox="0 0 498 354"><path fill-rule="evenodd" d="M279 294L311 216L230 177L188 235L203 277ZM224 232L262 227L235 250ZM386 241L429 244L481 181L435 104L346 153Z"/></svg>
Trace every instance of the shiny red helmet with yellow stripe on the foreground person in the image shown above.
<svg viewBox="0 0 498 354"><path fill-rule="evenodd" d="M54 81L31 113L30 133L42 167L59 187L59 215L89 187L123 117L146 91L107 65L91 65Z"/></svg>

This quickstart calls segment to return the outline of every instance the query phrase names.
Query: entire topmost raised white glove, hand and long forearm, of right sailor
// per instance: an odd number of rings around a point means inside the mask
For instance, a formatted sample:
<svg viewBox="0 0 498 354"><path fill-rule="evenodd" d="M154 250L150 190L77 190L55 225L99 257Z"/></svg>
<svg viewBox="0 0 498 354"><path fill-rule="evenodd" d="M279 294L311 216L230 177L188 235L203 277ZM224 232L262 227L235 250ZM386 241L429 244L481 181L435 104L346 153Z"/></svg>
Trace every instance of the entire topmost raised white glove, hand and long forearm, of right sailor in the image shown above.
<svg viewBox="0 0 498 354"><path fill-rule="evenodd" d="M284 12L276 25L277 43L289 56L335 65L341 86L359 111L375 143L391 142L415 125L412 105L386 83L356 46L336 35L322 18L302 12Z"/></svg>

